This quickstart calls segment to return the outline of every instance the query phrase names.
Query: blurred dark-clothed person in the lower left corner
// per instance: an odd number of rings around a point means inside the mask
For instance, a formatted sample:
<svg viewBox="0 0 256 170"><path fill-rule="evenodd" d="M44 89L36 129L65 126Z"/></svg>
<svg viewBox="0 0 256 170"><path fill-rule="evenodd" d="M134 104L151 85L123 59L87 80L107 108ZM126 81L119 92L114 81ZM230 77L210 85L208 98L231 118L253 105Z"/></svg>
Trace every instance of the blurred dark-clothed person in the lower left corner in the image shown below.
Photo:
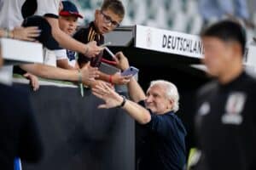
<svg viewBox="0 0 256 170"><path fill-rule="evenodd" d="M0 67L3 59L0 49ZM0 168L13 170L15 157L38 162L43 148L28 94L0 83Z"/></svg>

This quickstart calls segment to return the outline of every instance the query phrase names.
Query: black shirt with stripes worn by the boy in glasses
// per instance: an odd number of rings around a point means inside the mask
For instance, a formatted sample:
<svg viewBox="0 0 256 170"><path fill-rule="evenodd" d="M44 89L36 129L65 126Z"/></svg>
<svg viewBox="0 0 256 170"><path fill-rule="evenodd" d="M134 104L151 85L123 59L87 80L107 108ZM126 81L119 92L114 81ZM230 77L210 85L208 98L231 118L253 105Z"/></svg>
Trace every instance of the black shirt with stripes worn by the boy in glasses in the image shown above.
<svg viewBox="0 0 256 170"><path fill-rule="evenodd" d="M94 22L90 22L90 25L87 27L80 28L79 31L73 35L73 38L83 43L96 41L98 46L104 43L104 37L102 34L98 33ZM101 64L101 59L102 53L98 54L95 58L92 59L88 58L84 54L79 53L78 63L79 65L82 65L88 61L91 61L91 65L98 67Z"/></svg>

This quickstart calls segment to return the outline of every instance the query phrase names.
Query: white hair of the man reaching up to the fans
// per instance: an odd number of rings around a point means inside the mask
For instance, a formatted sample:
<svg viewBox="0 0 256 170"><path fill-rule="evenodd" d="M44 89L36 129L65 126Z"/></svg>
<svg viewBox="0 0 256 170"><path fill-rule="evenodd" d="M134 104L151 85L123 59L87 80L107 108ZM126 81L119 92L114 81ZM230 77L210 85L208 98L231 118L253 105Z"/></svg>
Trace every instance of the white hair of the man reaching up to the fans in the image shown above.
<svg viewBox="0 0 256 170"><path fill-rule="evenodd" d="M174 112L178 111L179 94L177 92L177 87L172 82L168 82L166 80L155 80L150 82L149 88L155 85L162 86L165 88L166 97L173 101L172 111Z"/></svg>

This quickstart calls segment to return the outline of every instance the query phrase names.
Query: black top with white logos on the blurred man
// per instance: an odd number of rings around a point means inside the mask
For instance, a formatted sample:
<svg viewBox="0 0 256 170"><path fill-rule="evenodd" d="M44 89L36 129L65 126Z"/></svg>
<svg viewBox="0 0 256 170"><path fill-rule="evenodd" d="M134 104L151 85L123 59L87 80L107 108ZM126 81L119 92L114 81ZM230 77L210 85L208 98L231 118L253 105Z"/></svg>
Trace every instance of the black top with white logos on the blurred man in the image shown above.
<svg viewBox="0 0 256 170"><path fill-rule="evenodd" d="M243 72L198 95L195 126L202 151L198 169L256 169L256 82Z"/></svg>

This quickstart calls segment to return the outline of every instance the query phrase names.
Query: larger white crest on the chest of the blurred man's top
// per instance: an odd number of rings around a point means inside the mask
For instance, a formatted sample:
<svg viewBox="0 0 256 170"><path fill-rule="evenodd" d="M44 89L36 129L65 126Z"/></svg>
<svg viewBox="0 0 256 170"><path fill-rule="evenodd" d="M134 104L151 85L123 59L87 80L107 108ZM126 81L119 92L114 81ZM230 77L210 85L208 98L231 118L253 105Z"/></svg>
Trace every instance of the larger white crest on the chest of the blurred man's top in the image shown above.
<svg viewBox="0 0 256 170"><path fill-rule="evenodd" d="M225 106L226 113L221 117L224 124L240 125L242 122L241 111L244 108L246 94L235 92L230 94Z"/></svg>

